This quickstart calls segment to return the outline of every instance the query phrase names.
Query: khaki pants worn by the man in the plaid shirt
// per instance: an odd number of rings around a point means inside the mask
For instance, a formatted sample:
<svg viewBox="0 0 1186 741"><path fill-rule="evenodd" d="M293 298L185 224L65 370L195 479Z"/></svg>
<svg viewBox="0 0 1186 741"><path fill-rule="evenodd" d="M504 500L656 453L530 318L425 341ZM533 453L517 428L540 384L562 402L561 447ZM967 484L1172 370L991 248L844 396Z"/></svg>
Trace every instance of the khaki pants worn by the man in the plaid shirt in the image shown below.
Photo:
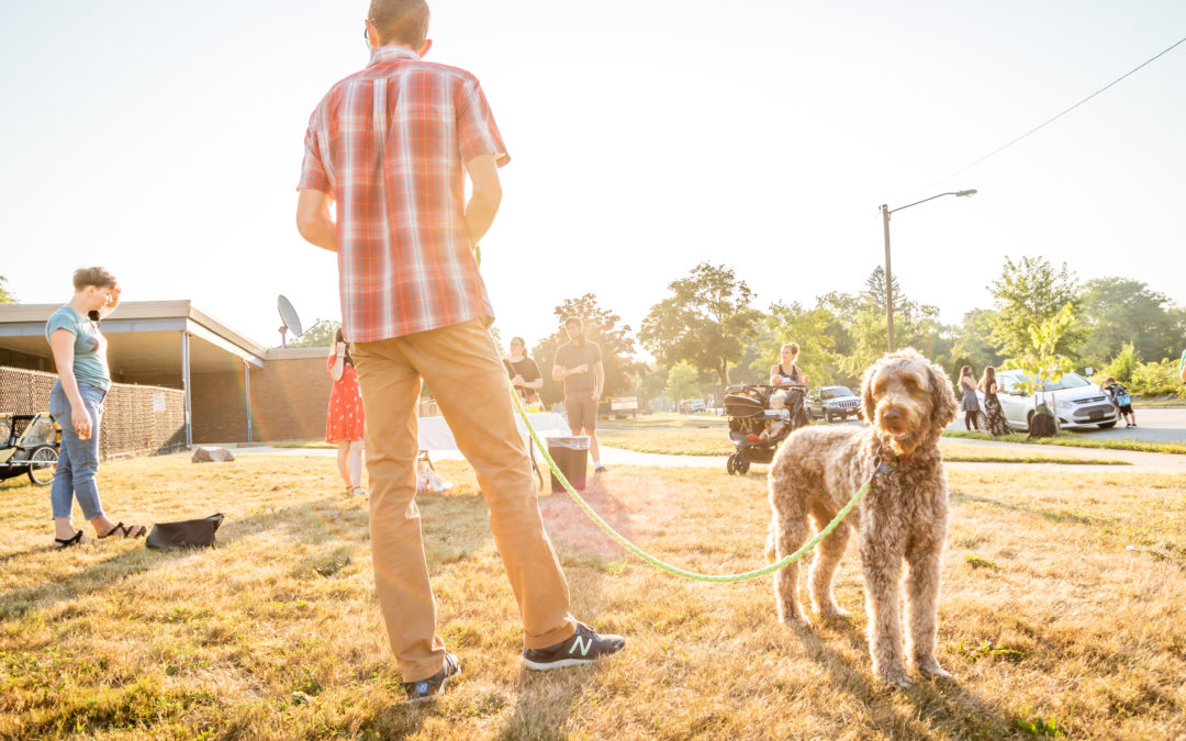
<svg viewBox="0 0 1186 741"><path fill-rule="evenodd" d="M426 679L445 660L415 502L421 378L478 474L523 618L524 645L543 649L572 635L568 583L543 530L510 379L482 322L355 343L351 354L366 415L375 590L403 681Z"/></svg>

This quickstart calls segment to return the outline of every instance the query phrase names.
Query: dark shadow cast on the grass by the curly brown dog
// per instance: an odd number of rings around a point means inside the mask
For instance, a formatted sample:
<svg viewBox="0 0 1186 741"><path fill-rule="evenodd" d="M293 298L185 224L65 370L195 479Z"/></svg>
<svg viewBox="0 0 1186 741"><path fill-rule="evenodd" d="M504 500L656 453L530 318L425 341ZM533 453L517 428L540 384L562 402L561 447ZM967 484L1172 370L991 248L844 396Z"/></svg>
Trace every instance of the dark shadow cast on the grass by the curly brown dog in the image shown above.
<svg viewBox="0 0 1186 741"><path fill-rule="evenodd" d="M808 658L829 675L831 685L867 707L871 722L887 737L906 734L987 739L1012 734L1010 718L995 713L978 695L964 688L955 672L950 679L924 679L912 672L914 685L908 690L893 689L876 679L871 682L868 640L861 626L853 618L842 618L824 621L823 627L823 631L798 628L795 634ZM859 651L862 665L854 666L834 649L834 637ZM901 707L903 700L913 711Z"/></svg>

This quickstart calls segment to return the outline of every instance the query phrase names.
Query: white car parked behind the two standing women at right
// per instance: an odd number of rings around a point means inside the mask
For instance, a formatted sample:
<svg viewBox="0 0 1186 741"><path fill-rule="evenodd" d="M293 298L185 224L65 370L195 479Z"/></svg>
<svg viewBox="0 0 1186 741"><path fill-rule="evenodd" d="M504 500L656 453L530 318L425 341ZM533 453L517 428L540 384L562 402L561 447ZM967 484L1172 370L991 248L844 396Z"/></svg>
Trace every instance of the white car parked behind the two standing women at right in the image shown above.
<svg viewBox="0 0 1186 741"><path fill-rule="evenodd" d="M1018 370L997 371L996 398L1005 411L1005 421L1013 429L1028 430L1029 419L1034 413L1034 396L1021 390L1025 373ZM1044 400L1058 416L1061 427L1099 427L1108 429L1120 421L1120 409L1096 384L1078 373L1066 373L1056 382L1050 382L1038 395L1038 403ZM981 395L981 409L984 397Z"/></svg>

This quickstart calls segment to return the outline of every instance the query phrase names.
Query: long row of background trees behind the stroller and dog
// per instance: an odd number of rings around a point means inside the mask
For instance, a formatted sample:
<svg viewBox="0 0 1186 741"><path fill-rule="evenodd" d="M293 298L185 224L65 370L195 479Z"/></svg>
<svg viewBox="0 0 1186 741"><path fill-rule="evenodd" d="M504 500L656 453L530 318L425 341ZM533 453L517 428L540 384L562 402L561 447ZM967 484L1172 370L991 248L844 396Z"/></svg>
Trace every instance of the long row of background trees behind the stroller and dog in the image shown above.
<svg viewBox="0 0 1186 741"><path fill-rule="evenodd" d="M776 300L759 308L758 296L735 272L703 262L668 285L668 295L643 319L637 337L594 294L555 307L559 321L576 315L586 336L601 346L605 396L638 396L639 403L665 395L721 398L729 384L765 383L779 347L796 341L799 365L812 385L853 387L887 345L886 292L893 292L894 334L956 376L963 365L978 373L1032 351L1032 328L1064 324L1053 349L1059 363L1095 379L1114 376L1141 395L1182 394L1177 358L1186 343L1186 309L1148 285L1121 276L1082 281L1065 263L1044 257L1006 256L988 286L990 308L967 312L955 325L939 321L937 307L905 295L897 277L886 286L875 267L856 294L831 292L811 305ZM562 331L531 351L544 377L543 398L562 396L551 362L566 341ZM636 341L655 360L637 358Z"/></svg>

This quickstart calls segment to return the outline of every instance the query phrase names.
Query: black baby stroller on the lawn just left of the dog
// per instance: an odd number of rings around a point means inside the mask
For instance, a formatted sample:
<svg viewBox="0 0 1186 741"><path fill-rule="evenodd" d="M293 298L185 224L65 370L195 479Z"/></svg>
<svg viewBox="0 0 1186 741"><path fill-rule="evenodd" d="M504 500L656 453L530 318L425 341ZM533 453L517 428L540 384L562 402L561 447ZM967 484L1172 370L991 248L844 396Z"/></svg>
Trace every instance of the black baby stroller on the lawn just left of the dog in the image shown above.
<svg viewBox="0 0 1186 741"><path fill-rule="evenodd" d="M770 409L770 397L779 389L790 391L785 409ZM806 387L801 383L780 385L732 385L725 389L725 415L729 417L729 442L737 452L725 462L729 474L744 474L750 464L769 464L774 460L778 443L792 432L808 423L803 404ZM767 420L786 420L784 427L770 440L752 442L751 435L760 435Z"/></svg>

